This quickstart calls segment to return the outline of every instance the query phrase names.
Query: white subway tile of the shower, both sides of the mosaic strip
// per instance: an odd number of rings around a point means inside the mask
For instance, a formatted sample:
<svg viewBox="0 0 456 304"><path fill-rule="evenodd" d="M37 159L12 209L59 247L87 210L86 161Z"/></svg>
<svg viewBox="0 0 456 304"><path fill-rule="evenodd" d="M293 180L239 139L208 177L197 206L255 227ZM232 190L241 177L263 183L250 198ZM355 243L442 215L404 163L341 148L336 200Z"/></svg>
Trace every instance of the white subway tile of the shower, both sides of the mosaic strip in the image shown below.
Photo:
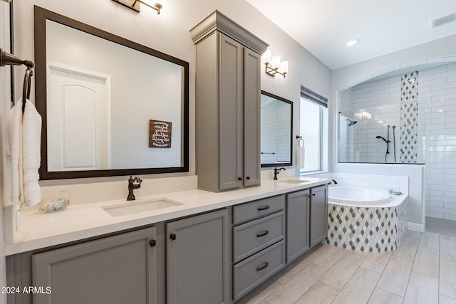
<svg viewBox="0 0 456 304"><path fill-rule="evenodd" d="M454 59L437 58L423 63ZM417 68L410 68L410 72L414 70ZM456 221L456 63L419 70L419 74L417 162L426 164L426 216ZM386 157L386 143L375 138L388 139L388 125L396 126L395 156L399 162L400 83L399 75L360 83L341 92L341 109L347 115L353 112L358 123L352 127L347 124L345 129L340 123L339 137L347 135L339 140L343 142L339 146L340 162L394 162L391 128L390 153ZM371 114L370 119L366 113Z"/></svg>

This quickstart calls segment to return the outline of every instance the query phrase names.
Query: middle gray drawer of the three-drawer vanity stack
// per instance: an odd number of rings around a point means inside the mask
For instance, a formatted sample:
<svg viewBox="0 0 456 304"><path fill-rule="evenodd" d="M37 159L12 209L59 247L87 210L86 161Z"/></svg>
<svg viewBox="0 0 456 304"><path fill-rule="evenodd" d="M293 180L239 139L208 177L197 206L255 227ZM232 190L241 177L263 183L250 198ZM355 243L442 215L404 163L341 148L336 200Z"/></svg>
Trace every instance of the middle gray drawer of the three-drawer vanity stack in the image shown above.
<svg viewBox="0 0 456 304"><path fill-rule="evenodd" d="M284 239L284 211L234 227L234 263Z"/></svg>

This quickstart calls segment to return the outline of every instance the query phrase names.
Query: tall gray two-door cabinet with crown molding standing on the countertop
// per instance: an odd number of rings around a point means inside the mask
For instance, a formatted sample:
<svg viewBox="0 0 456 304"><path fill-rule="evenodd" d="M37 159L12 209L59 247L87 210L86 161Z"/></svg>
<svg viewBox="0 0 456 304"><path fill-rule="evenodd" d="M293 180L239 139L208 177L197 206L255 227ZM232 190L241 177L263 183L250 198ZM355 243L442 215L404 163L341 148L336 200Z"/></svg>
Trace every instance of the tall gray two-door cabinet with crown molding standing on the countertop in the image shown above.
<svg viewBox="0 0 456 304"><path fill-rule="evenodd" d="M260 70L267 44L214 11L190 30L196 45L199 189L260 184Z"/></svg>

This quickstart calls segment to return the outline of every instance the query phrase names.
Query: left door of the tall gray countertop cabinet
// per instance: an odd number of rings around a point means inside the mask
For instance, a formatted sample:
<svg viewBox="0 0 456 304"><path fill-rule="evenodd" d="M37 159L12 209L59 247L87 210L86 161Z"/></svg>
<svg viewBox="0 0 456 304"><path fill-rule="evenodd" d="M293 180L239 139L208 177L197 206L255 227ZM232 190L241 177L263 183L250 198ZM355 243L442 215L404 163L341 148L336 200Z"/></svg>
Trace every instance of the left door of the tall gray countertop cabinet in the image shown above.
<svg viewBox="0 0 456 304"><path fill-rule="evenodd" d="M242 48L220 33L219 188L242 186Z"/></svg>

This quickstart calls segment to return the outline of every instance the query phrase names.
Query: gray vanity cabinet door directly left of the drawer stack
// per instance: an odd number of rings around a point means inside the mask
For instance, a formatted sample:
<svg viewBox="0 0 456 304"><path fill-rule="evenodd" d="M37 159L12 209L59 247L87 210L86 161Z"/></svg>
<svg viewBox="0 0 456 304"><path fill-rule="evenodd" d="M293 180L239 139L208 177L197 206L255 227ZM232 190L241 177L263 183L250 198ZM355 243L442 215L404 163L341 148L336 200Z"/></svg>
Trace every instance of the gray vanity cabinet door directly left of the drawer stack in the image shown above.
<svg viewBox="0 0 456 304"><path fill-rule="evenodd" d="M223 209L166 224L167 303L229 303L228 217Z"/></svg>

